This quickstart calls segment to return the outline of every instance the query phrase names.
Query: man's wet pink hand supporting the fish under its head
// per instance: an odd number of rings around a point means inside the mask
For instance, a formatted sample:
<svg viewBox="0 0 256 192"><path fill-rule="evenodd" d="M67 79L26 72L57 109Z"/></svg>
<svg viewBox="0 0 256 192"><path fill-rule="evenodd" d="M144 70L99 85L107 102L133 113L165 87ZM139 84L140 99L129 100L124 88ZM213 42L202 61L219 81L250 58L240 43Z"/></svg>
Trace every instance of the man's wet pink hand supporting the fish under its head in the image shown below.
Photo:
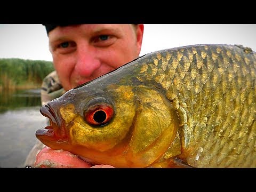
<svg viewBox="0 0 256 192"><path fill-rule="evenodd" d="M34 168L114 168L111 165L92 165L69 151L42 149L36 156Z"/></svg>

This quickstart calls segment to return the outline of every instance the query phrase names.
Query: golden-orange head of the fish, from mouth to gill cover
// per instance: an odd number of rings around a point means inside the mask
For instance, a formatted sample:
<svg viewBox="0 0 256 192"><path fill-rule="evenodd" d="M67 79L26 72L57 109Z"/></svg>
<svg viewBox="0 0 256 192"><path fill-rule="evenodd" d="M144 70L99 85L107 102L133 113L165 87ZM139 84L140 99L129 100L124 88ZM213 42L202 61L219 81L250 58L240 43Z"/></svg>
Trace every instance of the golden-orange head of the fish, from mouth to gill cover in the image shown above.
<svg viewBox="0 0 256 192"><path fill-rule="evenodd" d="M36 137L91 164L147 167L166 156L170 146L177 146L173 142L179 123L170 102L132 75L101 76L40 111L50 126L39 129Z"/></svg>

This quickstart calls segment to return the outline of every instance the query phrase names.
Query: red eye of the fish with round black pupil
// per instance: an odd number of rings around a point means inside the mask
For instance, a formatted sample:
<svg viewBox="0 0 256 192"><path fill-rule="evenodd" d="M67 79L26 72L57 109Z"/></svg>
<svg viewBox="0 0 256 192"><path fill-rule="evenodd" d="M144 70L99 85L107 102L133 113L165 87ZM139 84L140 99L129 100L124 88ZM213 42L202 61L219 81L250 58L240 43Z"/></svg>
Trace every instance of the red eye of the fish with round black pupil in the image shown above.
<svg viewBox="0 0 256 192"><path fill-rule="evenodd" d="M114 109L109 105L90 107L84 114L85 121L91 125L105 125L114 115Z"/></svg>

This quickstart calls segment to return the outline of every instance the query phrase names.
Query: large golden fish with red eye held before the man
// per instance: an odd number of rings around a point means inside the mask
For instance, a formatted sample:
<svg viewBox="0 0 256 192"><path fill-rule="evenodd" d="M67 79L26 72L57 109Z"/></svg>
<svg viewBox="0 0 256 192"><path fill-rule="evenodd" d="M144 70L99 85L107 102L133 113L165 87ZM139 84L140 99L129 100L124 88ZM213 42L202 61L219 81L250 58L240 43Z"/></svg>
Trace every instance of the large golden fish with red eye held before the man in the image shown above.
<svg viewBox="0 0 256 192"><path fill-rule="evenodd" d="M152 52L41 108L36 137L114 167L256 167L256 53L202 44Z"/></svg>

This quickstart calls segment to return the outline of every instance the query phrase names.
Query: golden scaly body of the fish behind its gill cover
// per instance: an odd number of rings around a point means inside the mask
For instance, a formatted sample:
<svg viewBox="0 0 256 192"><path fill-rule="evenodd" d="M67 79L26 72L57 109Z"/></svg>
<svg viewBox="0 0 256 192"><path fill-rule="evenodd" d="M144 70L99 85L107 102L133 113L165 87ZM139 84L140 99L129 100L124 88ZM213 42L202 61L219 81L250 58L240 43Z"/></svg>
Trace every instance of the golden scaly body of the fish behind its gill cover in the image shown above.
<svg viewBox="0 0 256 192"><path fill-rule="evenodd" d="M255 52L202 45L153 53L138 78L161 84L177 111L180 158L195 167L256 167L255 73Z"/></svg>

